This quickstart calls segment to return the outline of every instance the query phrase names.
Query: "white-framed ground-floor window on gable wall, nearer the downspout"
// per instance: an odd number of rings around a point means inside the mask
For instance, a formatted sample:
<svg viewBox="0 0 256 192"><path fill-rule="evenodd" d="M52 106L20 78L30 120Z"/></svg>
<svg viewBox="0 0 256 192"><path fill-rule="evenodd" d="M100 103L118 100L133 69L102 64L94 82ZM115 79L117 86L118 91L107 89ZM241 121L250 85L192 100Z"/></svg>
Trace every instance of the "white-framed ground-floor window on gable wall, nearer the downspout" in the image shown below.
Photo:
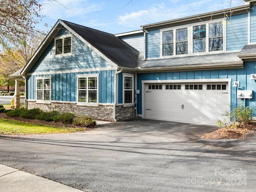
<svg viewBox="0 0 256 192"><path fill-rule="evenodd" d="M99 74L79 74L77 78L77 102L86 104L98 103Z"/></svg>

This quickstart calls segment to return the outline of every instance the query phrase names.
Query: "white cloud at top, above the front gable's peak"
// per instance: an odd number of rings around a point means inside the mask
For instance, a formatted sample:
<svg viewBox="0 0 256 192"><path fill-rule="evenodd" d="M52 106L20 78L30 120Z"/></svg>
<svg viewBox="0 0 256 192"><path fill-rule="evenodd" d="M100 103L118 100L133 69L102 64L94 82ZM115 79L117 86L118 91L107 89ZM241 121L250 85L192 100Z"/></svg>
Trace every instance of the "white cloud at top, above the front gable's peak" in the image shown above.
<svg viewBox="0 0 256 192"><path fill-rule="evenodd" d="M89 3L87 0L58 0L43 2L42 14L51 19L84 17L85 14L102 10L103 4Z"/></svg>

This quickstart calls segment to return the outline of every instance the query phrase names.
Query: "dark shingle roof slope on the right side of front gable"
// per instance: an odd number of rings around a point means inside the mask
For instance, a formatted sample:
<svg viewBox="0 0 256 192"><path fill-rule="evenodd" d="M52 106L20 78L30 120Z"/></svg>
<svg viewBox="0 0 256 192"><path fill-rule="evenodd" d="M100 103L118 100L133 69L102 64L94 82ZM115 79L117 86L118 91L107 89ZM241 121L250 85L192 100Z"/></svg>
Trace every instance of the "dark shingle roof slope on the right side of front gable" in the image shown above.
<svg viewBox="0 0 256 192"><path fill-rule="evenodd" d="M84 40L98 49L118 66L135 68L139 52L120 38L99 30L62 20Z"/></svg>

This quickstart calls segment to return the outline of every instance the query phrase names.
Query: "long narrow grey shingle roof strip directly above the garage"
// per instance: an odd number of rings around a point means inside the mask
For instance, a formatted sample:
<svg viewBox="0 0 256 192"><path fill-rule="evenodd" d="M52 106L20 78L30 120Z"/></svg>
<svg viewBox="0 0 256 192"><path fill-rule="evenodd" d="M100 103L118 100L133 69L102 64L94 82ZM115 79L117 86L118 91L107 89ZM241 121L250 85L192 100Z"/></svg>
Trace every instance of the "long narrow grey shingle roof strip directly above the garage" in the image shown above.
<svg viewBox="0 0 256 192"><path fill-rule="evenodd" d="M166 59L154 59L154 60L139 60L138 67L172 67L172 66L191 66L200 64L220 64L220 63L237 63L242 62L237 57L239 52L229 52L221 54L206 54L198 56L185 56Z"/></svg>

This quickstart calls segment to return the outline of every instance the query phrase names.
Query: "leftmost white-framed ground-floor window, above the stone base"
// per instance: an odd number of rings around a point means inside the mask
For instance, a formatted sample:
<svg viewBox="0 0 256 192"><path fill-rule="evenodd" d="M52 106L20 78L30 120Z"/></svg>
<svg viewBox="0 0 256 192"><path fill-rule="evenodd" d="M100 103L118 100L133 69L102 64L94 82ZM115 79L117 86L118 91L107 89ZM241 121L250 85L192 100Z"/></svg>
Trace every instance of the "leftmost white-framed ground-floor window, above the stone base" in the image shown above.
<svg viewBox="0 0 256 192"><path fill-rule="evenodd" d="M51 77L36 77L36 100L51 100Z"/></svg>

